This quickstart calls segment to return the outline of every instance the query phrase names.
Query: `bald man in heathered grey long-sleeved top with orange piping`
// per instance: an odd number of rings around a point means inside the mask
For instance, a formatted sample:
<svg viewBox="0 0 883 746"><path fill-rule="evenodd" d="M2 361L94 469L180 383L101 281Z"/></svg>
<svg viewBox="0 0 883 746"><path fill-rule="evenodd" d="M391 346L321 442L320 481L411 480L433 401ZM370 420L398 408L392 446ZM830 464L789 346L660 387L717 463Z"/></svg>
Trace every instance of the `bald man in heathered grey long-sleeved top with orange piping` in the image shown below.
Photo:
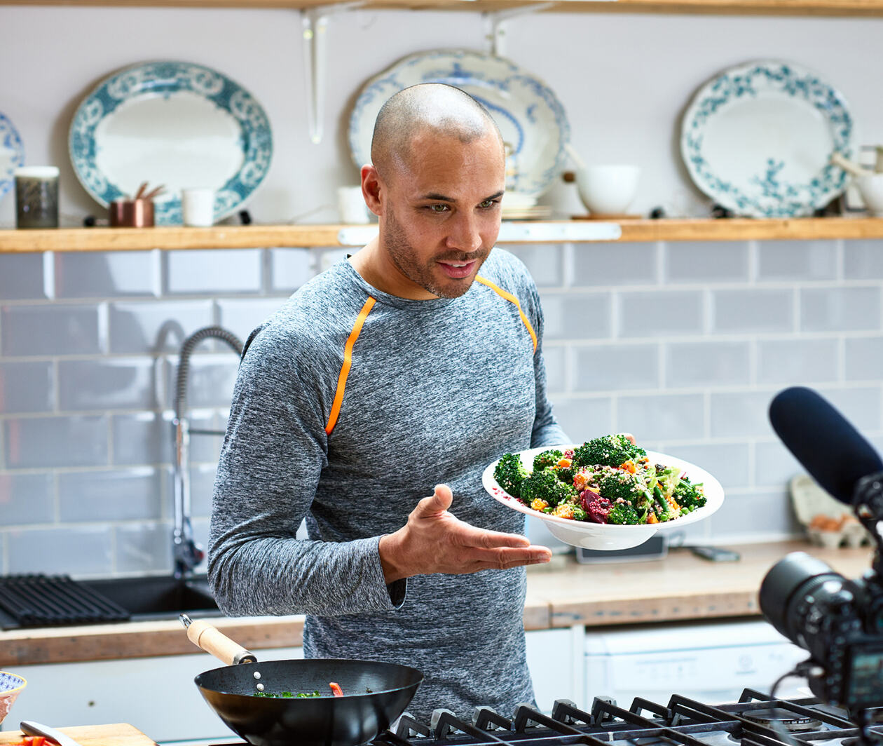
<svg viewBox="0 0 883 746"><path fill-rule="evenodd" d="M416 717L511 714L533 696L524 566L551 553L481 472L567 438L546 397L536 288L492 251L502 139L464 92L420 85L384 105L371 156L378 238L246 344L209 578L226 613L306 613L308 658L419 668Z"/></svg>

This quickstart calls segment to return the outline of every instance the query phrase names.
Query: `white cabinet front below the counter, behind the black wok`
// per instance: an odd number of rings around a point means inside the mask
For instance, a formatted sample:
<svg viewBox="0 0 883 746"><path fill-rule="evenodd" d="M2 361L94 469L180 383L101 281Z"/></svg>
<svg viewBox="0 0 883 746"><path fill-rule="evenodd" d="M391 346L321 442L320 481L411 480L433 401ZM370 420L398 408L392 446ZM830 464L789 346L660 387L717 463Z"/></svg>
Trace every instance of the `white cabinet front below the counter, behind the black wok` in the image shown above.
<svg viewBox="0 0 883 746"><path fill-rule="evenodd" d="M257 651L259 660L303 658L302 648ZM236 735L203 701L193 677L221 666L208 653L161 658L123 658L89 663L16 666L27 686L19 695L5 730L21 720L56 727L130 723L155 741Z"/></svg>

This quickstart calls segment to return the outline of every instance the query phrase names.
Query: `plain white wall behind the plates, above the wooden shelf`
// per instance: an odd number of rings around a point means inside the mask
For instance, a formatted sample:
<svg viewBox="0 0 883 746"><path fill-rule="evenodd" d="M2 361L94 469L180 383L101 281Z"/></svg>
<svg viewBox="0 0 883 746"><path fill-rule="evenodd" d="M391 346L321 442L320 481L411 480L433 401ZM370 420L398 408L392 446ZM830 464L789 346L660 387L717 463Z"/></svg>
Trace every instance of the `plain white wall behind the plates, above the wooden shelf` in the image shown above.
<svg viewBox="0 0 883 746"><path fill-rule="evenodd" d="M691 95L730 65L781 58L815 69L850 103L859 141L883 142L879 46L883 19L639 14L532 14L509 22L507 56L561 99L572 141L589 161L630 161L644 174L633 208L706 214L678 149ZM439 48L486 49L478 13L349 11L328 33L326 136L309 139L297 11L0 7L0 111L19 129L27 164L62 169L62 213L79 225L101 207L67 156L74 110L111 72L148 59L209 65L248 88L268 112L275 155L248 207L263 222L334 222L334 188L355 183L346 144L358 89L397 59ZM14 224L0 201L0 225ZM573 185L548 202L583 211Z"/></svg>

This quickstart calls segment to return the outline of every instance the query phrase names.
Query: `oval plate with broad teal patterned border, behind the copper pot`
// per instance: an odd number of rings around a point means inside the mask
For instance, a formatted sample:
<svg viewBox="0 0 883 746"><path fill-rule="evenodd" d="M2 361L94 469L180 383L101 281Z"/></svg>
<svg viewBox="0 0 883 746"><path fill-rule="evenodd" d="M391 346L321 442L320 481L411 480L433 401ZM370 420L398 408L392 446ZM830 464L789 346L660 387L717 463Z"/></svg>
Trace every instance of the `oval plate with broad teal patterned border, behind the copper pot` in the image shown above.
<svg viewBox="0 0 883 746"><path fill-rule="evenodd" d="M181 190L215 189L215 220L251 196L267 175L273 138L267 114L222 73L187 62L134 65L102 80L71 124L71 161L95 200L165 185L156 225L180 225Z"/></svg>

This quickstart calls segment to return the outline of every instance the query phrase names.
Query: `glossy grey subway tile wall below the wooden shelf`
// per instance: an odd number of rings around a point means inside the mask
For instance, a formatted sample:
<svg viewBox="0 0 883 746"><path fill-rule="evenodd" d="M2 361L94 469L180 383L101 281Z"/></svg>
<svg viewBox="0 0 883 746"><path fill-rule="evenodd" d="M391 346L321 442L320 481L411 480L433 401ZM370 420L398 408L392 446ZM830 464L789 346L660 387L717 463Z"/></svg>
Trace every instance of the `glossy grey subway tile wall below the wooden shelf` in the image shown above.
<svg viewBox="0 0 883 746"><path fill-rule="evenodd" d="M782 387L817 388L883 445L883 241L508 248L540 287L548 390L570 438L628 430L726 486L691 541L798 530L800 467L766 418ZM245 338L347 253L0 256L0 571L170 572L181 342L210 324ZM191 362L192 427L223 430L236 356L207 340ZM191 441L203 544L222 440Z"/></svg>

